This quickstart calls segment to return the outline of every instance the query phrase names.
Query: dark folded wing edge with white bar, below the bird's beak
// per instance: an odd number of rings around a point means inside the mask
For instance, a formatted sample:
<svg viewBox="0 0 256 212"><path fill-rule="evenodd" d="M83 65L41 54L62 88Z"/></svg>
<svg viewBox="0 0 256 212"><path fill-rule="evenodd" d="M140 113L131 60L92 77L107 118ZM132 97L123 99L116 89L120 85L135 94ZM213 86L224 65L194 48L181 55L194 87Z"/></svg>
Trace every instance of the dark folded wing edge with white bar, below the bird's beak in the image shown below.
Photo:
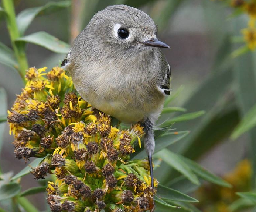
<svg viewBox="0 0 256 212"><path fill-rule="evenodd" d="M165 95L170 95L170 76L171 76L171 69L170 66L164 56L161 53L161 74L163 77L162 84L160 85L161 89L164 90Z"/></svg>

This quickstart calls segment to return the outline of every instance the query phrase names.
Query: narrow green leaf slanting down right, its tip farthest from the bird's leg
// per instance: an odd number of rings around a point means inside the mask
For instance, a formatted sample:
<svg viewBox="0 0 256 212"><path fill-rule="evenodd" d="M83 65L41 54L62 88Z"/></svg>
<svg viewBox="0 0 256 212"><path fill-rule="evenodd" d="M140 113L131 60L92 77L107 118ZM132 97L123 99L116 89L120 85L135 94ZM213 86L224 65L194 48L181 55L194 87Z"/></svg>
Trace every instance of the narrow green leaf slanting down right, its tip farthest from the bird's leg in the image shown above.
<svg viewBox="0 0 256 212"><path fill-rule="evenodd" d="M174 153L175 154L175 153ZM226 181L222 180L221 177L216 176L215 174L205 170L203 167L201 167L198 163L183 157L182 155L178 155L175 154L178 158L180 158L181 160L184 161L184 163L186 163L191 170L197 174L199 177L201 177L202 179L209 181L211 183L223 186L223 187L232 187L231 184L227 183Z"/></svg>

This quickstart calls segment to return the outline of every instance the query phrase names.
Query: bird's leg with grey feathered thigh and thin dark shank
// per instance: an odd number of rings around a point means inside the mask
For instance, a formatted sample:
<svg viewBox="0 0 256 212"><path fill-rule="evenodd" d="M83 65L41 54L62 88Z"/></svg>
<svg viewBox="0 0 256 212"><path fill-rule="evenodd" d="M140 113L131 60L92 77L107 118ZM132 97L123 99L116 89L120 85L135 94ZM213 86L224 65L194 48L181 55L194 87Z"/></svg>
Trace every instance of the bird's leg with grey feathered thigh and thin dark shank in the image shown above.
<svg viewBox="0 0 256 212"><path fill-rule="evenodd" d="M153 163L152 163L152 154L155 149L155 139L154 139L154 131L153 131L153 121L150 118L147 118L144 123L144 146L149 159L149 168L150 168L150 177L151 177L151 187L154 189L154 174L153 174ZM153 196L153 205L150 209L153 212L155 209L155 200Z"/></svg>

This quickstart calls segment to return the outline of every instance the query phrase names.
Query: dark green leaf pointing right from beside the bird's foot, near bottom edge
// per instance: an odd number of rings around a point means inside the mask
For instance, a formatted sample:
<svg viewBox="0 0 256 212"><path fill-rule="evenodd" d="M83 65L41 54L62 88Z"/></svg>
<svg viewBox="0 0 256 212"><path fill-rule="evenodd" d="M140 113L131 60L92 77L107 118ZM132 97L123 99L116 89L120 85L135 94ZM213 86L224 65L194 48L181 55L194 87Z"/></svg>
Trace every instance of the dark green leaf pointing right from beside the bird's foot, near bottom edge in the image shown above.
<svg viewBox="0 0 256 212"><path fill-rule="evenodd" d="M160 184L157 186L157 196L164 200L168 199L181 202L198 202L197 199L190 197L187 194L182 194L179 191L173 190Z"/></svg>

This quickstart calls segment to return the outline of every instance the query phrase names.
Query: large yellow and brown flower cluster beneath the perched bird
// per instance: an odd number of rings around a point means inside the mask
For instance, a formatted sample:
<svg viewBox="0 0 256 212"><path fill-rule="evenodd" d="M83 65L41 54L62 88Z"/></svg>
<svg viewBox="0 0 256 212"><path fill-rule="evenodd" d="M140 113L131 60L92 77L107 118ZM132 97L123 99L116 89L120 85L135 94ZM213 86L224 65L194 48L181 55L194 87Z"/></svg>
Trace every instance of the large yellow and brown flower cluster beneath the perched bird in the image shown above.
<svg viewBox="0 0 256 212"><path fill-rule="evenodd" d="M153 208L147 160L129 160L143 127L112 126L110 116L78 95L59 67L30 68L27 84L8 111L15 155L44 157L32 171L48 182L52 212L143 212ZM157 181L155 181L157 186Z"/></svg>

